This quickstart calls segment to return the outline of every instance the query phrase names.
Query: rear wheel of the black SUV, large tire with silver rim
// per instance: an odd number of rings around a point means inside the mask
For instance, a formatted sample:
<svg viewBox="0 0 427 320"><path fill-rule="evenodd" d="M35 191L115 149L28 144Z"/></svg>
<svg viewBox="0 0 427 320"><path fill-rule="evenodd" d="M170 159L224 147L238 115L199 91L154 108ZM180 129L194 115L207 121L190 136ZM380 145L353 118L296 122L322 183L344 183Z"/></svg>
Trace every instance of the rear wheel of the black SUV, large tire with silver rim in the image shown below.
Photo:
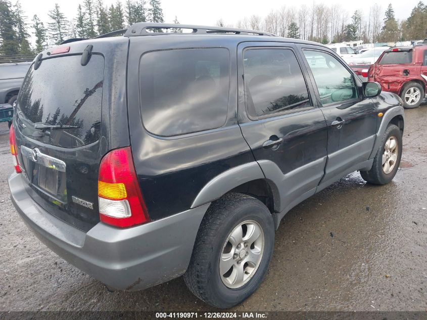
<svg viewBox="0 0 427 320"><path fill-rule="evenodd" d="M259 200L229 193L202 220L184 281L218 308L243 302L261 284L274 247L274 223Z"/></svg>

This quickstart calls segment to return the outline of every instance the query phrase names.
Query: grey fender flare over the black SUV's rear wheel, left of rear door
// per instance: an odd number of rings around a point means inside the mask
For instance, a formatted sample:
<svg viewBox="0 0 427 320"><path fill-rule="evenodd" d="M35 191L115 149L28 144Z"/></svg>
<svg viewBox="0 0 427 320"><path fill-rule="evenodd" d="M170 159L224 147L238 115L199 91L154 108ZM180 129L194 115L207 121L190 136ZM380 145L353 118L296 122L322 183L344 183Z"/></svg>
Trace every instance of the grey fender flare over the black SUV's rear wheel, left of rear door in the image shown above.
<svg viewBox="0 0 427 320"><path fill-rule="evenodd" d="M210 180L199 192L191 208L219 199L223 194L245 182L264 179L264 173L256 161L228 169Z"/></svg>

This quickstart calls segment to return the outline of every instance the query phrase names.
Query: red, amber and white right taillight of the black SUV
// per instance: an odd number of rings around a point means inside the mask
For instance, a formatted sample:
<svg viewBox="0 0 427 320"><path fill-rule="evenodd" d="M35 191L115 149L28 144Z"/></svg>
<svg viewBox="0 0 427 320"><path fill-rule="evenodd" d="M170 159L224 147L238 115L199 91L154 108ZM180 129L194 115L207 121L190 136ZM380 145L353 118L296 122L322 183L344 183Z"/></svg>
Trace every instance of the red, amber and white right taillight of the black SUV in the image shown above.
<svg viewBox="0 0 427 320"><path fill-rule="evenodd" d="M130 147L112 150L101 160L98 201L105 223L127 227L150 221Z"/></svg>

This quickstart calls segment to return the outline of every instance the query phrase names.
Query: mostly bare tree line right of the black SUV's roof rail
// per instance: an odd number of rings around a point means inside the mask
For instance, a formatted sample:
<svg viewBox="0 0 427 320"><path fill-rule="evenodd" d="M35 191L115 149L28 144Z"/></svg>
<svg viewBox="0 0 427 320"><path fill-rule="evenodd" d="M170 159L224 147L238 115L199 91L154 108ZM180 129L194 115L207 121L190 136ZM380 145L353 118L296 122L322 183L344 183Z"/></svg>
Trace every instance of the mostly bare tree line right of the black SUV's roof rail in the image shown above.
<svg viewBox="0 0 427 320"><path fill-rule="evenodd" d="M252 15L239 20L238 28L271 32L283 37L312 40L322 43L363 40L363 42L396 42L420 40L427 37L427 5L420 1L407 19L398 21L390 4L384 12L372 5L364 16L356 10L349 13L339 5L314 3L311 7L282 7L266 17ZM218 26L225 26L222 19ZM231 27L233 24L228 24Z"/></svg>

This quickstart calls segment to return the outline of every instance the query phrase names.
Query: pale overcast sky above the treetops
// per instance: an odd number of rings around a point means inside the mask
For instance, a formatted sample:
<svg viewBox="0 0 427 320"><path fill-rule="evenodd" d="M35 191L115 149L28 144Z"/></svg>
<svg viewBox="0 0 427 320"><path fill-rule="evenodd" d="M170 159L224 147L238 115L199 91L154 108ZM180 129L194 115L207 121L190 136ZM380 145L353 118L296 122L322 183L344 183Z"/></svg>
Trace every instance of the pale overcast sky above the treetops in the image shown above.
<svg viewBox="0 0 427 320"><path fill-rule="evenodd" d="M376 3L381 6L384 12L391 3L393 5L396 18L401 20L407 18L412 9L416 6L419 0L383 0L377 1ZM11 0L15 3L15 0ZM22 7L28 16L28 22L34 14L37 14L39 18L46 23L49 21L48 11L54 9L55 3L61 8L61 11L65 14L68 19L76 17L77 6L79 3L83 3L83 0L20 0ZM148 1L147 1L148 2ZM115 4L116 0L104 0L104 5L110 6ZM125 0L122 0L122 4ZM312 0L299 0L298 2L291 2L292 4L302 5L306 4L311 6ZM321 1L315 1L315 3L322 3ZM375 1L372 0L358 0L358 1L323 1L323 3L337 4L346 9L349 13L353 13L357 9L363 11L364 16L369 13L369 7L372 6ZM185 24L203 24L203 25L214 25L220 18L226 24L235 24L238 20L243 19L245 16L249 17L253 14L264 17L271 10L281 8L283 5L289 6L290 2L284 0L244 0L244 1L233 1L233 0L216 0L216 1L205 1L205 0L161 0L163 14L165 22L173 22L175 15L178 17L180 23ZM351 14L349 15L351 17Z"/></svg>

